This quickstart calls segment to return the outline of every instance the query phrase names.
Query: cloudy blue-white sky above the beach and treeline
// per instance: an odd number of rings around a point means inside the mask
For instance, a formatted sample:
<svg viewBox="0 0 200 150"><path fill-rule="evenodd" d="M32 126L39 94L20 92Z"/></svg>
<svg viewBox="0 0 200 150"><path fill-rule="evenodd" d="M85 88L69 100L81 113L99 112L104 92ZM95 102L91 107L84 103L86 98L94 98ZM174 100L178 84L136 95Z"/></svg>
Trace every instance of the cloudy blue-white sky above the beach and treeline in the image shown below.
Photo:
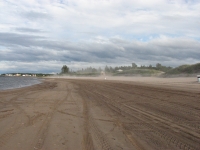
<svg viewBox="0 0 200 150"><path fill-rule="evenodd" d="M200 0L1 0L0 74L200 62Z"/></svg>

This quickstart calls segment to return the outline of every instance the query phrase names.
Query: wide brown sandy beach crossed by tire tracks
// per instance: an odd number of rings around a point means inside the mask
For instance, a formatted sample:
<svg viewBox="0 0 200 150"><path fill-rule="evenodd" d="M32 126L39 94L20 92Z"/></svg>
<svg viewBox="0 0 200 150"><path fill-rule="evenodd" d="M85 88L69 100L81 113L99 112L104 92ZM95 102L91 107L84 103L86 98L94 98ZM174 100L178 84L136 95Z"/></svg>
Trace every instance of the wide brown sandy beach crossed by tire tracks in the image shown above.
<svg viewBox="0 0 200 150"><path fill-rule="evenodd" d="M200 149L196 78L48 78L0 91L1 150Z"/></svg>

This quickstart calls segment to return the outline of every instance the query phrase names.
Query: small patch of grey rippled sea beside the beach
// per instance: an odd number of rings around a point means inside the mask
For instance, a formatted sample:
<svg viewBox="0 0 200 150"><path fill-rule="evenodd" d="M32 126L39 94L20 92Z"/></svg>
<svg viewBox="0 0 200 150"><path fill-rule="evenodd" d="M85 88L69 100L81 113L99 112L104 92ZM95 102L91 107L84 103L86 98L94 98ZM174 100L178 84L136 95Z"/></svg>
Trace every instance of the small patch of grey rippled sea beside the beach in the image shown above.
<svg viewBox="0 0 200 150"><path fill-rule="evenodd" d="M34 84L39 84L42 81L36 77L5 77L0 76L0 90L15 89Z"/></svg>

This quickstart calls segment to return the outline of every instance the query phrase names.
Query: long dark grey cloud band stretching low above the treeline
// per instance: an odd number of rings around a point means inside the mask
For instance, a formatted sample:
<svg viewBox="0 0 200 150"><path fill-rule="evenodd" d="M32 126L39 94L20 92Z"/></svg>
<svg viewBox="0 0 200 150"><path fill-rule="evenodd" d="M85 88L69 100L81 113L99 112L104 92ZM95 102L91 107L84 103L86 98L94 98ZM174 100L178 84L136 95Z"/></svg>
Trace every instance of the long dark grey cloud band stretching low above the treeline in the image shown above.
<svg viewBox="0 0 200 150"><path fill-rule="evenodd" d="M52 41L41 36L0 33L0 44L8 47L2 51L1 61L60 61L86 63L139 63L165 65L183 60L200 60L200 42L185 39L155 39L150 42L128 41L119 38L103 43L72 43ZM124 62L120 62L124 61ZM190 63L190 62L185 62Z"/></svg>

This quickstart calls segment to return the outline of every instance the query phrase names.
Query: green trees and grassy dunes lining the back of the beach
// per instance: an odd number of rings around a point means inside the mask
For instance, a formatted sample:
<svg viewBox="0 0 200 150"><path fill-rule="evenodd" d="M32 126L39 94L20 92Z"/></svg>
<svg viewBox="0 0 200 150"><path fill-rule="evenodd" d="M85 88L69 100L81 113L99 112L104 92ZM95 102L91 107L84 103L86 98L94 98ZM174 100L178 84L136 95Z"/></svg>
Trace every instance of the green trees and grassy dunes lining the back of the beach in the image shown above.
<svg viewBox="0 0 200 150"><path fill-rule="evenodd" d="M61 68L61 75L66 74L70 76L99 76L99 75L113 75L113 76L168 76L174 74L194 74L200 73L200 63L194 65L182 65L177 68L163 66L157 63L156 66L137 66L132 63L131 66L118 66L111 67L106 66L104 69L88 67L85 69L70 71L69 68L64 65Z"/></svg>

